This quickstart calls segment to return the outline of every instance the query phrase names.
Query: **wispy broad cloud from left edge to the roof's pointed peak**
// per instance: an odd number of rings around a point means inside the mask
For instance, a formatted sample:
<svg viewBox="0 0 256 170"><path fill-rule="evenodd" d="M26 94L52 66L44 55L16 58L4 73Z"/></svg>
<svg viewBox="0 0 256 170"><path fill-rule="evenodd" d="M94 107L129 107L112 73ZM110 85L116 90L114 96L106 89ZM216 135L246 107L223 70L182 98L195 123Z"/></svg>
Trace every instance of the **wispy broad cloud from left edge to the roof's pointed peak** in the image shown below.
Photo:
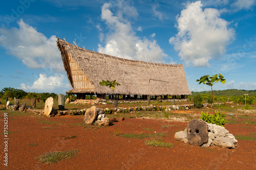
<svg viewBox="0 0 256 170"><path fill-rule="evenodd" d="M63 71L63 64L56 45L56 36L47 38L22 19L19 28L0 28L0 45L7 53L22 60L29 68L51 68Z"/></svg>

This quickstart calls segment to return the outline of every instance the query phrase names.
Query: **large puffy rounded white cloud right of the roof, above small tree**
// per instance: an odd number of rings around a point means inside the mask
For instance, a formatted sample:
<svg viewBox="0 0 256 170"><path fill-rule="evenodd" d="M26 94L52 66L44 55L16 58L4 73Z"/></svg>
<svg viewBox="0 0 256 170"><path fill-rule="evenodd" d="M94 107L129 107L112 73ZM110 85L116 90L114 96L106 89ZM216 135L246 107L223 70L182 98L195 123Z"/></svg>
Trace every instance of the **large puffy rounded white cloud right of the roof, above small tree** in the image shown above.
<svg viewBox="0 0 256 170"><path fill-rule="evenodd" d="M234 30L220 18L221 12L212 8L203 10L202 6L201 1L187 4L176 18L178 34L169 39L181 59L195 67L209 66L208 61L223 55L234 39Z"/></svg>

